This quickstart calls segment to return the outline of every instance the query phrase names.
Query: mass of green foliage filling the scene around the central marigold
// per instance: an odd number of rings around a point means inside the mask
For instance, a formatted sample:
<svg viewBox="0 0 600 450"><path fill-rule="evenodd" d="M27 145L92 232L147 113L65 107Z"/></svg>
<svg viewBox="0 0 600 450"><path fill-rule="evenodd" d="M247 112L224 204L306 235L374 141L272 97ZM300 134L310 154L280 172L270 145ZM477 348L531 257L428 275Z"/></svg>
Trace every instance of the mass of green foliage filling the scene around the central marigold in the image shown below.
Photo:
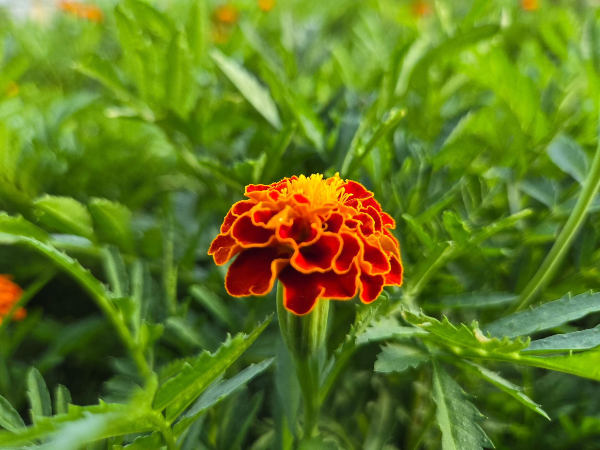
<svg viewBox="0 0 600 450"><path fill-rule="evenodd" d="M2 13L0 273L28 317L0 326L0 447L600 448L598 383L573 375L600 379L600 196L544 305L506 316L596 181L596 3ZM335 172L397 221L406 281L335 302L321 434L298 442L289 356L257 326L274 293L230 298L206 251L245 185Z"/></svg>

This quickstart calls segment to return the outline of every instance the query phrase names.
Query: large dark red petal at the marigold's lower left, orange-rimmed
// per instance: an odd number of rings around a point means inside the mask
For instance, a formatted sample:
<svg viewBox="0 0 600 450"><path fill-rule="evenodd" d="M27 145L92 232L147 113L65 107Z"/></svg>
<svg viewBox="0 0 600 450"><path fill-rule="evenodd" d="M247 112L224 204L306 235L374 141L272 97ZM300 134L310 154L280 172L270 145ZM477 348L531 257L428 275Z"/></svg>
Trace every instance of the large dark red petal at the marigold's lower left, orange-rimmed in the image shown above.
<svg viewBox="0 0 600 450"><path fill-rule="evenodd" d="M277 272L287 260L277 248L248 248L227 270L225 289L229 295L265 295L273 287Z"/></svg>

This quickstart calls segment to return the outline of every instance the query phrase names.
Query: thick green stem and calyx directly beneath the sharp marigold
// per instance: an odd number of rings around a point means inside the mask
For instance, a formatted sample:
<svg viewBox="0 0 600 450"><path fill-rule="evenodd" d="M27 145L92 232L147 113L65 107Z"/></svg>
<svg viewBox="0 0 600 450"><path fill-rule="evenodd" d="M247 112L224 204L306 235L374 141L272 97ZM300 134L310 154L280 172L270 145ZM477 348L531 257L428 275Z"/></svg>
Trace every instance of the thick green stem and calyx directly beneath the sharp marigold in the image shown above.
<svg viewBox="0 0 600 450"><path fill-rule="evenodd" d="M328 313L329 301L326 299L317 300L313 310L304 316L291 313L283 305L283 284L278 283L277 316L302 391L305 436L314 436L319 423L321 398L317 354L325 342Z"/></svg>

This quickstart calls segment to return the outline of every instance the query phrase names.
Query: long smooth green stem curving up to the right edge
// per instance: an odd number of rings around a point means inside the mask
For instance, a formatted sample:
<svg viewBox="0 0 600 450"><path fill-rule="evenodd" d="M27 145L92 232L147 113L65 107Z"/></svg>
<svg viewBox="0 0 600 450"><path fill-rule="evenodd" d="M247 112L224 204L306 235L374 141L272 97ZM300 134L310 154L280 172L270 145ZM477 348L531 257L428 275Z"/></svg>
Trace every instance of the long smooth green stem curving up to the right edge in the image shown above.
<svg viewBox="0 0 600 450"><path fill-rule="evenodd" d="M590 172L587 174L586 181L583 185L583 190L577 199L575 208L571 212L569 219L567 220L565 227L560 232L558 239L554 242L554 245L550 249L550 253L544 259L544 262L539 267L536 274L529 281L521 295L517 299L514 305L510 308L509 312L520 311L523 308L528 307L534 301L536 296L541 292L544 287L550 283L554 274L559 269L560 263L562 263L565 254L571 248L571 244L577 232L581 229L583 221L586 218L587 211L592 204L596 193L600 189L600 139L598 140L598 147L596 148L596 155L594 157Z"/></svg>

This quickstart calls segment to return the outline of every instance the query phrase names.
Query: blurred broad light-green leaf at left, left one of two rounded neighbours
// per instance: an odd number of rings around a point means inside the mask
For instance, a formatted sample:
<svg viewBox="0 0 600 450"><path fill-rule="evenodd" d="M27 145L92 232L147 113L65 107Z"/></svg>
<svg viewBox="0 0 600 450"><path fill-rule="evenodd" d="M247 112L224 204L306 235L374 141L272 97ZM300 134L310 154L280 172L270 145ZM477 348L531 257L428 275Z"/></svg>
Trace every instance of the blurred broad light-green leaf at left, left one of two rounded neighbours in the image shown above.
<svg viewBox="0 0 600 450"><path fill-rule="evenodd" d="M34 200L40 221L61 233L94 239L92 217L88 210L71 197L45 195Z"/></svg>

